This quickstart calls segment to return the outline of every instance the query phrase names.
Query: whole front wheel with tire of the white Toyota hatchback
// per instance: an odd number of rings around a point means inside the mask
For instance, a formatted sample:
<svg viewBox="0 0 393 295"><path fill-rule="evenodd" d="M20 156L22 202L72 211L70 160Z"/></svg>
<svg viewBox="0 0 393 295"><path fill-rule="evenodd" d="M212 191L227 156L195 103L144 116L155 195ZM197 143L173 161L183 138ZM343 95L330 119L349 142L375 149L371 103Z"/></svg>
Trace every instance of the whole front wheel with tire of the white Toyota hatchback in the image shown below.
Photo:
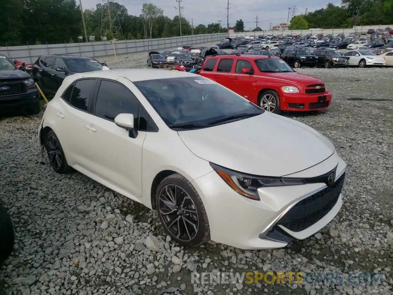
<svg viewBox="0 0 393 295"><path fill-rule="evenodd" d="M198 192L182 175L169 175L155 195L158 217L165 231L184 246L198 246L210 240L208 216Z"/></svg>

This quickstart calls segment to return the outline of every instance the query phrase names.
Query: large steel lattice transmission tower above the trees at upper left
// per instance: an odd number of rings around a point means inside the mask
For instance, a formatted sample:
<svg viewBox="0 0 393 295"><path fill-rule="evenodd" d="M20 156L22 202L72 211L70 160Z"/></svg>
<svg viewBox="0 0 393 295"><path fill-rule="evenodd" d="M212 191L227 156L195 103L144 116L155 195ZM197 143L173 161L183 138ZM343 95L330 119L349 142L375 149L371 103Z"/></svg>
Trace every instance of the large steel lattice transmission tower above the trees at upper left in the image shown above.
<svg viewBox="0 0 393 295"><path fill-rule="evenodd" d="M101 12L101 38L110 34L112 39L118 39L119 35L123 35L121 30L118 11L114 2L110 0L102 1Z"/></svg>

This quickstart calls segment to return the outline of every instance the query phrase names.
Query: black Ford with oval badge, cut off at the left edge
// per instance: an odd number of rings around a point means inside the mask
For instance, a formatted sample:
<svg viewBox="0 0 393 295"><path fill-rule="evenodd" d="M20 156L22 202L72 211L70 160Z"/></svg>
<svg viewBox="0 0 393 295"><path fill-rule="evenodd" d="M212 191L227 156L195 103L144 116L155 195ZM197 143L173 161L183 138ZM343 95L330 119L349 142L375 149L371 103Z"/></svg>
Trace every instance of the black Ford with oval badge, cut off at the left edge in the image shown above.
<svg viewBox="0 0 393 295"><path fill-rule="evenodd" d="M0 110L22 109L29 114L40 112L40 96L33 79L0 54Z"/></svg>

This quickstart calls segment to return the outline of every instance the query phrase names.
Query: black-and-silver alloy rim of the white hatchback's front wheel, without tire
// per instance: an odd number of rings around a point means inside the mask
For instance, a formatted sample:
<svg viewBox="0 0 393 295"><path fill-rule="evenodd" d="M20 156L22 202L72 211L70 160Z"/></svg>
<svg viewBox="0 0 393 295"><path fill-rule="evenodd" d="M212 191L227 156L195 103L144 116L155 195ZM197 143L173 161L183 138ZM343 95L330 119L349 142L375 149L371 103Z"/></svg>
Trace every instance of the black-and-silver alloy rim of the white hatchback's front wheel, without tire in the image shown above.
<svg viewBox="0 0 393 295"><path fill-rule="evenodd" d="M193 240L198 232L199 219L189 194L176 184L167 184L158 198L158 214L164 227L182 242Z"/></svg>

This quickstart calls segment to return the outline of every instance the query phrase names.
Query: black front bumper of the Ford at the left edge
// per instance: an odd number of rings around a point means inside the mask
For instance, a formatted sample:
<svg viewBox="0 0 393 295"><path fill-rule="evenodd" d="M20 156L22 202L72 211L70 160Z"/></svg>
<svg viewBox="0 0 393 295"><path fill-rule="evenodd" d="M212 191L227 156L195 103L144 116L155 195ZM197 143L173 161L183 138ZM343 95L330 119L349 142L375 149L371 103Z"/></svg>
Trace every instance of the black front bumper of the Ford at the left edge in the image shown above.
<svg viewBox="0 0 393 295"><path fill-rule="evenodd" d="M31 105L38 104L40 95L37 88L28 89L26 92L0 96L0 110L11 111L26 109Z"/></svg>

